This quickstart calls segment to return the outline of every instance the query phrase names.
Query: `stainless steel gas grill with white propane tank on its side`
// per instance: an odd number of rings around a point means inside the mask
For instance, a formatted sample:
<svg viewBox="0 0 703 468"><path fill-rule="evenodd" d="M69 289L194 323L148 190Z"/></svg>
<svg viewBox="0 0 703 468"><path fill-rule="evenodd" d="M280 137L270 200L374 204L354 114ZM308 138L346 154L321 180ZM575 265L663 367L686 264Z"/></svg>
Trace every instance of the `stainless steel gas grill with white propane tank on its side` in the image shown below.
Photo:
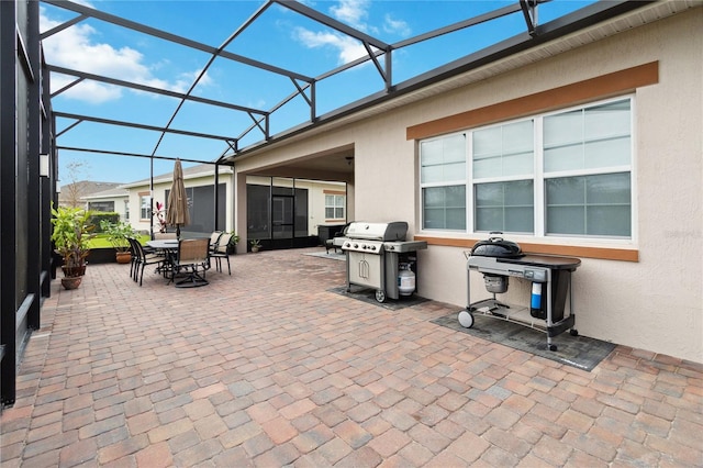
<svg viewBox="0 0 703 468"><path fill-rule="evenodd" d="M376 289L376 300L399 299L416 291L416 250L424 241L405 241L408 223L354 222L342 249L347 255L347 292L352 285Z"/></svg>

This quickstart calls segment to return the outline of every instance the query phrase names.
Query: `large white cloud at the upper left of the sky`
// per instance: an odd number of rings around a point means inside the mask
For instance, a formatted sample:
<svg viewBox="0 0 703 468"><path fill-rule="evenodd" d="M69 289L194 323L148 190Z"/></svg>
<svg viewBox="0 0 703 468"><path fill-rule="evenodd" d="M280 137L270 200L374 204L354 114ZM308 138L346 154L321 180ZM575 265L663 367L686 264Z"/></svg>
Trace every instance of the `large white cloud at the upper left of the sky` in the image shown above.
<svg viewBox="0 0 703 468"><path fill-rule="evenodd" d="M44 11L40 15L41 31L47 31L60 23L49 19ZM115 48L110 44L94 40L98 32L88 24L78 23L43 41L45 56L52 65L79 71L103 75L111 78L134 81L155 88L185 92L192 83L199 70L182 74L179 79L168 81L154 76L153 70L159 64L145 64L142 53L132 47ZM55 76L52 90L60 89L76 78ZM201 85L210 82L205 76ZM120 99L123 88L96 81L83 81L64 92L63 96L91 103L101 103Z"/></svg>

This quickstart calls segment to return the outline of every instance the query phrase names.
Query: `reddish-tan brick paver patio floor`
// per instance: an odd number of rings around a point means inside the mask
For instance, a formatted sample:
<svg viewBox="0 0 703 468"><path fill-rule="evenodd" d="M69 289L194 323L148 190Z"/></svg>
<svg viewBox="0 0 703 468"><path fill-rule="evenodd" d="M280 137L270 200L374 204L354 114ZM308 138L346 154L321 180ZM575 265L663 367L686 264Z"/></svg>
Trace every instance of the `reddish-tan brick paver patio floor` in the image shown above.
<svg viewBox="0 0 703 468"><path fill-rule="evenodd" d="M343 261L232 256L176 289L58 281L1 415L11 467L703 466L703 366L617 347L587 372L331 292Z"/></svg>

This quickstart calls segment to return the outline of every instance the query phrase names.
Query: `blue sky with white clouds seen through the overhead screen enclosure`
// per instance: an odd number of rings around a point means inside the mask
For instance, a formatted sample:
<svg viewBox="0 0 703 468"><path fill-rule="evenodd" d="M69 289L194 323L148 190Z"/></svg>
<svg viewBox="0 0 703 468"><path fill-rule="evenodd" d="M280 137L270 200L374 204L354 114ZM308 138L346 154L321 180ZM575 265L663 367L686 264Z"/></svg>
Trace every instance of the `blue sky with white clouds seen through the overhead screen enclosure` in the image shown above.
<svg viewBox="0 0 703 468"><path fill-rule="evenodd" d="M554 0L539 7L539 23L592 3L589 0ZM364 45L284 7L274 4L247 27L247 20L265 2L249 0L113 0L77 1L143 25L166 31L200 44L220 47L241 31L224 51L270 64L304 77L316 78L344 64L367 56ZM493 11L512 1L479 0L305 0L309 8L328 15L388 44L397 44L428 31ZM51 31L77 13L41 3L40 29ZM392 53L392 81L399 83L451 60L524 33L521 12L446 34ZM169 43L153 35L104 21L80 21L43 41L46 62L83 73L138 82L164 90L224 101L255 111L269 111L297 91L288 76ZM205 68L207 67L207 68ZM239 138L239 147L260 142L258 129L246 132L257 113L105 85L94 80L75 83L72 76L53 73L52 99L56 112L137 122L144 125ZM74 86L71 86L71 83ZM298 81L300 86L301 81ZM334 109L382 91L383 79L369 62L317 81L315 112ZM178 112L176 112L178 110ZM305 123L310 105L300 96L274 112L270 133ZM172 121L171 121L172 120ZM130 182L150 175L152 160L144 157L105 155L133 153L212 161L225 154L221 140L104 125L59 118L57 144L97 152L59 151L59 181L93 180ZM186 163L183 167L192 166ZM172 161L154 159L154 175L170 172Z"/></svg>

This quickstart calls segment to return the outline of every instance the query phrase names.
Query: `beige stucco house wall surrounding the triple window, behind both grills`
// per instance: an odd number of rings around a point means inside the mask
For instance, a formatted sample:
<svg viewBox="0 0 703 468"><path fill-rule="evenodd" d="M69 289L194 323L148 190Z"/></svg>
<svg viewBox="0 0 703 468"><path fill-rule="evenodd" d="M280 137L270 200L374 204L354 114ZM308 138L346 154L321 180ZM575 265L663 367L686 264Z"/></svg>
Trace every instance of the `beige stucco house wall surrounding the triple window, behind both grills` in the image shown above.
<svg viewBox="0 0 703 468"><path fill-rule="evenodd" d="M309 141L263 152L245 159L243 167L253 169L353 143L355 208L349 219L403 220L410 222L411 233L422 234L417 158L415 142L405 138L408 126L658 60L659 82L635 92L634 238L578 243L637 248L639 261L582 260L573 277L577 328L582 335L703 363L701 31L703 8L698 8ZM389 183L389 174L393 183ZM532 237L511 239L534 242ZM466 305L464 250L433 245L420 253L421 296L456 304L457 310ZM509 291L516 301L526 296L526 287L517 283L511 281ZM471 291L488 294L479 275L472 275Z"/></svg>

